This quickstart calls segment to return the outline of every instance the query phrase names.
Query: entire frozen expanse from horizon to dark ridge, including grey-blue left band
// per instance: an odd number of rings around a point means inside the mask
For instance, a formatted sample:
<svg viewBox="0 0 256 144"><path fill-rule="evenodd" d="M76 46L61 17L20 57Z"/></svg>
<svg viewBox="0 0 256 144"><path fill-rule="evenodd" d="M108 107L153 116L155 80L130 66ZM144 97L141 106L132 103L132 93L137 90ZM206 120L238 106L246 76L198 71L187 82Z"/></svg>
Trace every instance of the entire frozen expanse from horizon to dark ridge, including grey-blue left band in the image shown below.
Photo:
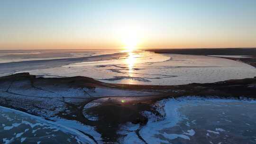
<svg viewBox="0 0 256 144"><path fill-rule="evenodd" d="M209 83L256 76L256 69L246 63L203 55L155 54L140 50L17 53L0 57L2 61L7 61L7 57L12 58L9 62L19 61L0 63L2 76L30 72L44 77L87 76L107 83L147 85ZM32 53L31 56L28 53ZM23 61L20 61L21 55L26 55ZM39 60L40 57L44 59Z"/></svg>

